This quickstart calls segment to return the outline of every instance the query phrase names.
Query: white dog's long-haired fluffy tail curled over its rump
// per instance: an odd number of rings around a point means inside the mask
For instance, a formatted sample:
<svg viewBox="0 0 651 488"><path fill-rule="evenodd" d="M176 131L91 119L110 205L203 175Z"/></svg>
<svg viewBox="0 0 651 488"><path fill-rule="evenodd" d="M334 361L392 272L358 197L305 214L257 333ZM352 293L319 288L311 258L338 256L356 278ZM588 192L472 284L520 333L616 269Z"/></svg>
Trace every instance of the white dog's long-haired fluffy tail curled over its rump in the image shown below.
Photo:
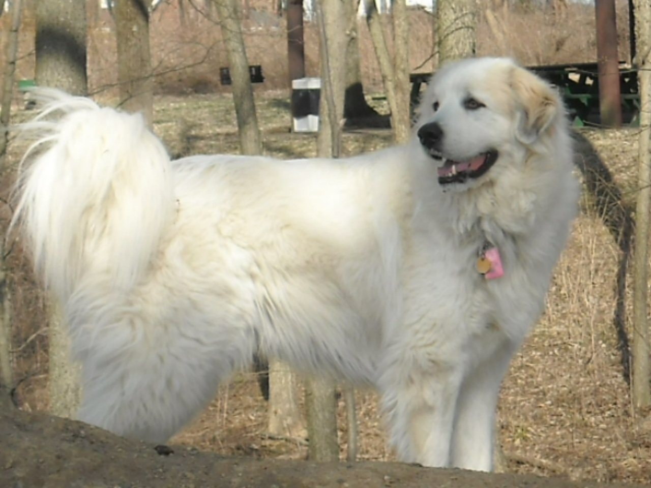
<svg viewBox="0 0 651 488"><path fill-rule="evenodd" d="M38 275L66 303L85 278L128 291L173 216L171 163L141 115L51 88L19 126L36 139L21 162L16 212Z"/></svg>

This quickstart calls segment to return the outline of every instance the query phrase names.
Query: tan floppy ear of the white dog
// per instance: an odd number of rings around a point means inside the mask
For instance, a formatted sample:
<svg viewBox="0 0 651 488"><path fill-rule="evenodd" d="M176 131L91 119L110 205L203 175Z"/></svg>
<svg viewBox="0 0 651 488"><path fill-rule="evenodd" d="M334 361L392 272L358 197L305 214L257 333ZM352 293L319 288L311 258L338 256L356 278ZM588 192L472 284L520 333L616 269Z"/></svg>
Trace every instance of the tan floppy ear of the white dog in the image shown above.
<svg viewBox="0 0 651 488"><path fill-rule="evenodd" d="M545 81L519 66L513 69L510 83L519 105L516 135L519 141L531 144L562 111L559 96Z"/></svg>

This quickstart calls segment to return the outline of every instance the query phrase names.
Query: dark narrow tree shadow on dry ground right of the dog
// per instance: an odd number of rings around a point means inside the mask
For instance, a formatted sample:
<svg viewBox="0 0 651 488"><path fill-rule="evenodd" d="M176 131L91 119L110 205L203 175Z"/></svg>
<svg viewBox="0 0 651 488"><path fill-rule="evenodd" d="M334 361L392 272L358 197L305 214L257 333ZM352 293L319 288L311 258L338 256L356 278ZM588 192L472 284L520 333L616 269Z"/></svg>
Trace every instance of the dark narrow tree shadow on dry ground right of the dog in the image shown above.
<svg viewBox="0 0 651 488"><path fill-rule="evenodd" d="M621 256L616 277L616 303L613 325L617 334L617 347L620 354L622 373L630 383L630 342L626 332L626 273L633 249L635 221L633 211L622 200L622 191L613 180L613 175L603 163L592 143L581 133L574 132L574 163L583 174L585 187L589 192L592 206L600 215L603 224L618 245Z"/></svg>

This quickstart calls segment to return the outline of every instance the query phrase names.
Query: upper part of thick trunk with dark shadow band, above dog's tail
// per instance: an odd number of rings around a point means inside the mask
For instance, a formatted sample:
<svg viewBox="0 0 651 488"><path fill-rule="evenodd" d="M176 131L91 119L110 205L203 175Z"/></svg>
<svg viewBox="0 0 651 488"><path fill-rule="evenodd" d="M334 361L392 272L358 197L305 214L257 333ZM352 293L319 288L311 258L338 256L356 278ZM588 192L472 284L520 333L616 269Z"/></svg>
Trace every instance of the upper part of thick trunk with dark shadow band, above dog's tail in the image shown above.
<svg viewBox="0 0 651 488"><path fill-rule="evenodd" d="M36 83L87 94L84 1L36 1Z"/></svg>

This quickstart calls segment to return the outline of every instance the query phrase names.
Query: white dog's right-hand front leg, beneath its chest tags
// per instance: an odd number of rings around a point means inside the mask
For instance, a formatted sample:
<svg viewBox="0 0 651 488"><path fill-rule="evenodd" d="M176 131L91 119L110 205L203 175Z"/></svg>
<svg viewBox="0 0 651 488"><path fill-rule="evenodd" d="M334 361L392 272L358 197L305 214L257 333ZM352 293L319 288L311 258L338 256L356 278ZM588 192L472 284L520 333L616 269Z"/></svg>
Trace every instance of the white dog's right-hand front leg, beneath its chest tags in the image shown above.
<svg viewBox="0 0 651 488"><path fill-rule="evenodd" d="M499 387L513 350L510 344L503 344L465 377L452 434L452 467L477 471L493 469Z"/></svg>

